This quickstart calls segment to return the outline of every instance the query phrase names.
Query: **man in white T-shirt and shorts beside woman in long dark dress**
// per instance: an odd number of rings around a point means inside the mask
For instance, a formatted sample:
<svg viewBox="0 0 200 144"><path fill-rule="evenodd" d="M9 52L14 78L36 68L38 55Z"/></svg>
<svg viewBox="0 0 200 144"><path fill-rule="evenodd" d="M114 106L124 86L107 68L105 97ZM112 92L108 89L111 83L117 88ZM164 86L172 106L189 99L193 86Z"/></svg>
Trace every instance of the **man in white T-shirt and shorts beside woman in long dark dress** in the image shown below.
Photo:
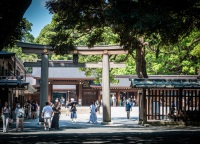
<svg viewBox="0 0 200 144"><path fill-rule="evenodd" d="M46 106L42 109L42 118L44 118L44 130L47 130L46 125L48 123L49 130L51 130L51 116L53 114L52 107L49 102L45 103Z"/></svg>

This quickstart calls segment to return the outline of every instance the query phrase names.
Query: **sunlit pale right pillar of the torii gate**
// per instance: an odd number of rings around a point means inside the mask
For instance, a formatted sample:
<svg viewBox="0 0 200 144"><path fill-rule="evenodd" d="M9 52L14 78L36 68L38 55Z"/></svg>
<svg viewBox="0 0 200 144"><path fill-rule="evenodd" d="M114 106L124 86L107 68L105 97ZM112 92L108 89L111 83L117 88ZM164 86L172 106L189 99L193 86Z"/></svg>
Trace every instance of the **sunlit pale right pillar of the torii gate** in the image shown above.
<svg viewBox="0 0 200 144"><path fill-rule="evenodd" d="M109 56L103 55L103 70L102 70L102 99L103 99L103 122L102 124L111 123L111 106L110 106L110 76L109 76Z"/></svg>

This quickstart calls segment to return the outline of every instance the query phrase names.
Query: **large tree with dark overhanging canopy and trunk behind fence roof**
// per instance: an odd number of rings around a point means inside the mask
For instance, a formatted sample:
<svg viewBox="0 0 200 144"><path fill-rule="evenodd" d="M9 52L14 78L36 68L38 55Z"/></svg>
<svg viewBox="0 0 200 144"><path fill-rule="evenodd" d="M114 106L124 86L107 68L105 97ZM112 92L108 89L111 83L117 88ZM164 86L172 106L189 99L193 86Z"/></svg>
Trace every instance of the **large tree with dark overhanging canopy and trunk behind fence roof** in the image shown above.
<svg viewBox="0 0 200 144"><path fill-rule="evenodd" d="M138 77L148 77L145 39L161 39L160 44L176 43L194 28L199 29L199 0L49 0L54 13L56 36L51 45L57 54L74 48L76 33L89 35L87 46L101 43L105 27L118 34L118 42L132 54L136 50ZM77 38L77 37L76 37Z"/></svg>

